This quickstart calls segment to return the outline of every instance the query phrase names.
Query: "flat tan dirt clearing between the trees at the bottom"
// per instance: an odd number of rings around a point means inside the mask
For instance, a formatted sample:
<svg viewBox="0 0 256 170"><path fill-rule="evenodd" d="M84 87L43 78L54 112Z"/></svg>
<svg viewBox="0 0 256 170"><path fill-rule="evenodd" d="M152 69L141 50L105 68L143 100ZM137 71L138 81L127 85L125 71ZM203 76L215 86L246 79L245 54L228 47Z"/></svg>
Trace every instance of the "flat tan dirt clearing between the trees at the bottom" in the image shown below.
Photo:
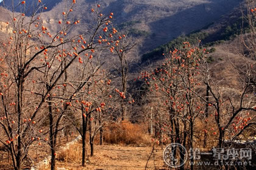
<svg viewBox="0 0 256 170"><path fill-rule="evenodd" d="M119 146L103 145L95 146L94 156L87 161L87 167L82 168L80 163L57 162L59 168L69 170L94 169L94 170L135 170L145 169L152 147L145 146ZM163 150L156 148L152 154L147 169L167 169L162 158Z"/></svg>

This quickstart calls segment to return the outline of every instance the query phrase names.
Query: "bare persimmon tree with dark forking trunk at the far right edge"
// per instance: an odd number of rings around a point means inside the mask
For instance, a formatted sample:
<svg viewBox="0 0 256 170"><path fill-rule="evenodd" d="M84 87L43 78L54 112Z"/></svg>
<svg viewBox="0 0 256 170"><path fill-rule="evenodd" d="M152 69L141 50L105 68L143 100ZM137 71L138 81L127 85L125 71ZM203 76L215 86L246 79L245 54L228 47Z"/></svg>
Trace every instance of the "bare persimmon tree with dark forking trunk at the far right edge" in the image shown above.
<svg viewBox="0 0 256 170"><path fill-rule="evenodd" d="M233 66L233 77L238 79L236 90L224 89L221 82L213 78L213 67L204 62L204 84L208 87L210 100L208 104L212 115L215 116L218 130L218 146L224 147L224 140L235 140L246 129L255 129L255 11L248 4L247 14L243 14L249 24L249 32L240 35L240 48L236 54L240 63L229 60ZM222 81L225 81L223 78ZM215 132L216 133L216 132Z"/></svg>

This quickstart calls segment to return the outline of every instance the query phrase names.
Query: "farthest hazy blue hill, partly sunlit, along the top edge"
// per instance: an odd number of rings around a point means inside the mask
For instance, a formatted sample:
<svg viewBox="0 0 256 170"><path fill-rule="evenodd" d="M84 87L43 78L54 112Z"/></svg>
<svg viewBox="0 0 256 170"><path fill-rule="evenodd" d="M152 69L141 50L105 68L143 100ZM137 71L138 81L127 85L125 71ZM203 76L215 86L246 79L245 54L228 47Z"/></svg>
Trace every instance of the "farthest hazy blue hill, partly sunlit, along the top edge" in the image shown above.
<svg viewBox="0 0 256 170"><path fill-rule="evenodd" d="M80 29L91 21L90 9L95 2L101 4L104 13L115 13L114 23L119 29L126 30L142 39L140 53L148 52L161 44L182 34L188 34L208 25L222 15L227 15L242 0L77 0L73 18L80 19ZM14 0L18 4L19 0ZM55 23L62 18L65 3L62 0L42 0L48 9L44 12L45 24L52 31L57 31ZM57 5L58 4L58 5ZM3 3L1 2L1 5ZM35 4L26 1L27 15ZM12 6L12 1L5 0L5 6ZM21 9L16 9L20 12ZM78 30L79 31L79 30Z"/></svg>

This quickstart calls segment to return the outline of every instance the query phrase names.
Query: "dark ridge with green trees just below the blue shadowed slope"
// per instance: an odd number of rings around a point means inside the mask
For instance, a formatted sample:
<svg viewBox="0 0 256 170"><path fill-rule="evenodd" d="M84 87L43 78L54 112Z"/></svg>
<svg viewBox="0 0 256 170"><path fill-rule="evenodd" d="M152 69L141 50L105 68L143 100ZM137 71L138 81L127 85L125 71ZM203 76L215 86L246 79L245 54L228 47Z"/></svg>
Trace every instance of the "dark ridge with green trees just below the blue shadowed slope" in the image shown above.
<svg viewBox="0 0 256 170"><path fill-rule="evenodd" d="M200 39L202 45L212 46L232 39L235 35L243 33L248 27L247 22L241 17L242 12L247 13L246 10L246 4L238 5L226 15L216 19L215 22L205 25L201 29L188 33L187 35L183 34L148 53L144 53L141 57L141 64L146 61L152 63L158 60L166 48L173 50L175 47L180 46L183 41L190 41L192 44L197 44Z"/></svg>

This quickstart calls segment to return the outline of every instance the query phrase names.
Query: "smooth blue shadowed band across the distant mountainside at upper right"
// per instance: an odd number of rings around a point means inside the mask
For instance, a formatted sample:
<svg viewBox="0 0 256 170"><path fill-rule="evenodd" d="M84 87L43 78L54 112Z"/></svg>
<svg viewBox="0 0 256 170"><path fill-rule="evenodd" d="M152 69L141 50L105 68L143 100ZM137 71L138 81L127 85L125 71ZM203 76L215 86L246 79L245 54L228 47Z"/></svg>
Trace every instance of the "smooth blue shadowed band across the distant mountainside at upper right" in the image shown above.
<svg viewBox="0 0 256 170"><path fill-rule="evenodd" d="M158 44L164 44L179 35L201 29L205 25L218 20L222 15L227 15L240 2L210 1L151 22L149 26L151 30L154 30L154 33L146 39L143 47L148 50L148 47L157 47ZM150 39L154 39L154 41L152 42Z"/></svg>

